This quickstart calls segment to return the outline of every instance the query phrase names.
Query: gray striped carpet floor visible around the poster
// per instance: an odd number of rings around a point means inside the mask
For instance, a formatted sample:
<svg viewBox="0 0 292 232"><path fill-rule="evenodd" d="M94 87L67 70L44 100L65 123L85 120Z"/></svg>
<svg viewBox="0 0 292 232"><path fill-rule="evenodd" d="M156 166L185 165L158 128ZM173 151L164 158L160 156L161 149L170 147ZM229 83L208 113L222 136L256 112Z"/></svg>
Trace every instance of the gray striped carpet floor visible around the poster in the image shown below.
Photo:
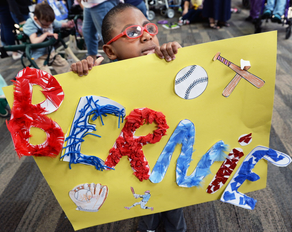
<svg viewBox="0 0 292 232"><path fill-rule="evenodd" d="M232 6L242 8L241 1ZM178 15L176 15L178 16ZM183 47L225 38L253 34L254 27L244 21L248 10L232 14L228 28L214 30L207 23L184 25L166 30L159 25L159 41L178 41ZM157 12L156 19L164 19ZM168 19L177 21L178 17ZM278 30L277 74L270 148L292 156L292 37L285 40L285 27L265 23L263 31ZM107 60L105 62L108 62ZM22 69L20 61L0 59L0 73L9 81ZM32 157L17 158L5 119L0 118L0 231L58 232L74 231L62 208ZM189 232L291 232L292 165L268 165L267 187L248 193L258 200L254 210L212 201L184 208ZM138 218L82 229L80 232L135 231ZM160 225L157 232L162 232Z"/></svg>

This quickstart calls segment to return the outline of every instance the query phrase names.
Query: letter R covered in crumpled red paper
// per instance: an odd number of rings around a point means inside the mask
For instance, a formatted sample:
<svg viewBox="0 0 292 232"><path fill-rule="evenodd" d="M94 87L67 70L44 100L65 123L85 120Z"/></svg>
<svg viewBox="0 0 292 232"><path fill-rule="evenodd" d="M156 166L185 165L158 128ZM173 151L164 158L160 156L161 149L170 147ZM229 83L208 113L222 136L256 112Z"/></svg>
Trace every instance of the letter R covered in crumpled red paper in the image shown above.
<svg viewBox="0 0 292 232"><path fill-rule="evenodd" d="M169 126L166 124L166 119L163 113L150 110L148 108L134 109L127 117L127 122L121 131L121 134L116 140L114 147L109 150L105 166L114 168L120 161L122 156L128 156L134 175L140 181L148 180L150 176L150 168L143 154L142 146L147 143L157 143L162 136L166 135L166 129ZM146 136L134 136L135 131L143 125L143 123L155 121L158 128L153 134ZM108 169L110 170L110 169Z"/></svg>

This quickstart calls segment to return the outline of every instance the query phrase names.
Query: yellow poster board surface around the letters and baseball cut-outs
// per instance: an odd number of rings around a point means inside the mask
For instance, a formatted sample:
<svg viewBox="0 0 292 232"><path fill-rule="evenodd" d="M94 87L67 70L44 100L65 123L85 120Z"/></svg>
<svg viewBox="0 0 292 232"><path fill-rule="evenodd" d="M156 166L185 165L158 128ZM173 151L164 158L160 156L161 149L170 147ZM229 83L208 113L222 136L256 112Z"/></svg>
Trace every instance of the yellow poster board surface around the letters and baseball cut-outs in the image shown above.
<svg viewBox="0 0 292 232"><path fill-rule="evenodd" d="M228 97L223 96L223 90L236 72L221 61L213 60L217 52L221 52L220 56L237 66L240 66L240 59L250 61L248 72L264 80L263 87L257 88L241 78L232 93ZM229 150L242 148L245 156L258 145L269 146L276 54L277 32L272 31L180 48L176 59L171 62L153 54L100 65L83 77L72 72L56 75L65 99L60 108L48 116L66 133L80 97L88 95L103 96L118 102L125 106L126 115L135 108L146 107L162 112L169 126L167 135L158 143L142 147L151 170L178 123L189 119L195 126L195 151L187 173L190 175L201 157L219 140L228 144ZM208 85L200 96L186 100L175 94L175 78L181 69L192 65L204 68L208 75ZM4 92L12 105L13 87L5 87ZM34 88L33 103L43 100L44 96ZM112 115L103 117L103 122L104 126L100 120L95 121L97 131L94 133L101 138L85 137L81 152L105 160L125 121L120 128L117 117ZM146 135L154 129L154 124L144 125L135 135ZM31 133L31 143L44 141L39 141L44 137L42 131L34 130ZM238 143L239 136L249 133L252 133L252 142L241 146ZM212 174L203 179L201 187L179 187L176 184L175 168L180 149L179 145L176 146L164 179L156 184L150 180L140 182L133 175L127 157L122 157L115 170L110 171L98 171L94 166L84 164L72 164L72 169L69 169L68 162L60 161L60 154L55 159L38 157L35 161L74 229L78 230L220 199L229 180L214 194L208 194L206 188L223 162L215 162L211 166ZM240 192L265 188L267 162L260 160L253 171L260 176L260 180L244 182L239 188ZM69 197L70 190L84 183L100 183L108 188L108 196L98 212L76 210L75 203ZM137 194L149 190L151 198L147 205L154 210L141 209L139 205L130 210L125 209L125 206L140 201L133 197L130 187Z"/></svg>

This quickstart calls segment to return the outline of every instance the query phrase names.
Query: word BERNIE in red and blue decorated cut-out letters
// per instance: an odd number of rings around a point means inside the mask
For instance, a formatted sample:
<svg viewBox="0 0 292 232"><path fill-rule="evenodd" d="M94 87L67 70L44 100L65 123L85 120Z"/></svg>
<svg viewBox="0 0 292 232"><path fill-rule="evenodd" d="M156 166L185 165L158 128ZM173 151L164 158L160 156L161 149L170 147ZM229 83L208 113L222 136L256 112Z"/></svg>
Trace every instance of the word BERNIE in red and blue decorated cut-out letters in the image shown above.
<svg viewBox="0 0 292 232"><path fill-rule="evenodd" d="M42 103L32 105L32 85L40 85L44 91L46 100ZM68 130L63 147L64 136L61 127L48 118L46 115L58 110L63 99L64 92L58 81L50 74L34 69L25 68L18 73L14 82L15 92L11 119L7 123L11 133L15 150L19 157L22 156L50 156L56 157L62 150L65 151L63 160L69 164L88 164L93 165L98 170L114 170L122 156L128 156L134 175L140 180L148 180L159 183L164 178L170 164L174 147L182 144L181 153L177 160L176 182L180 187L201 186L201 181L210 174L210 167L215 161L225 161L216 174L216 178L208 187L207 192L211 193L218 190L226 182L237 165L239 156L231 153L225 154L227 145L222 141L215 143L204 154L191 175L187 176L187 169L190 165L195 127L194 124L184 119L175 128L164 150L161 152L152 173L143 154L142 146L148 143L157 143L162 136L166 135L169 126L163 113L148 108L134 109L127 117L126 123L114 146L109 150L109 155L105 161L95 156L81 154L80 146L84 138L95 129L95 125L88 124L88 119L93 115L92 120L101 119L107 114L115 115L120 119L125 117L125 108L119 103L98 96L82 97L77 106L71 128ZM158 128L146 136L135 136L135 131L145 122L156 122ZM103 124L103 122L102 122ZM30 128L38 127L46 132L47 138L41 145L31 145L29 143ZM235 150L233 150L235 151ZM234 159L238 157L237 159ZM67 160L66 160L67 159ZM231 160L232 159L232 160ZM232 203L247 209L253 209L256 200L238 192L237 190L245 180L256 181L260 177L252 172L252 169L260 159L266 159L277 166L287 166L291 163L291 157L268 147L255 147L244 159L237 172L234 174L227 185L221 201ZM229 160L229 161L226 161ZM71 168L71 166L70 166ZM218 179L220 178L220 179ZM222 183L222 184L220 184Z"/></svg>

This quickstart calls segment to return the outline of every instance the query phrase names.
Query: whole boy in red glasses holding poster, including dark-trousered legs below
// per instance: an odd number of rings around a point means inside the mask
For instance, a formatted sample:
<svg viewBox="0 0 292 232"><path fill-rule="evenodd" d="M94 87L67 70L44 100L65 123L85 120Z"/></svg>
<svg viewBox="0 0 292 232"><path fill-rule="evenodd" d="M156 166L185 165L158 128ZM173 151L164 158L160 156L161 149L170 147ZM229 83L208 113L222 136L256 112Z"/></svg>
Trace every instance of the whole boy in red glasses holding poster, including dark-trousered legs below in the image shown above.
<svg viewBox="0 0 292 232"><path fill-rule="evenodd" d="M103 50L111 60L124 60L156 53L160 59L171 61L181 46L170 42L159 47L155 24L150 24L143 13L133 5L124 3L112 8L102 21ZM102 57L93 63L92 57L73 63L70 70L79 76L87 75L88 69L100 65ZM137 232L154 232L160 220L166 232L185 232L183 209L169 210L140 217Z"/></svg>

